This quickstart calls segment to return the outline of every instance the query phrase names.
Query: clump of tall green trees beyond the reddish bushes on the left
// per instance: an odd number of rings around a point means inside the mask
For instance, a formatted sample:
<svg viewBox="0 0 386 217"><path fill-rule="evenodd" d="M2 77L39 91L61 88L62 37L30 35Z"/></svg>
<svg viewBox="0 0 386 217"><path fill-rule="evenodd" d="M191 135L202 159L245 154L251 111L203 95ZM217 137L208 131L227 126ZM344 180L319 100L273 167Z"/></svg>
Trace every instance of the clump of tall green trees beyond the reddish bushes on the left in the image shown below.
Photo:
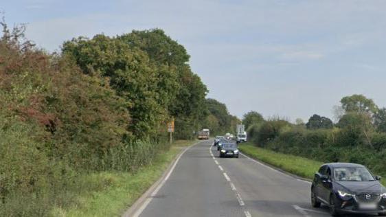
<svg viewBox="0 0 386 217"><path fill-rule="evenodd" d="M88 75L108 78L128 104L129 130L136 138L157 136L170 117L177 137L188 137L205 119L207 89L186 63L185 48L162 30L133 31L117 37L73 38L63 53Z"/></svg>

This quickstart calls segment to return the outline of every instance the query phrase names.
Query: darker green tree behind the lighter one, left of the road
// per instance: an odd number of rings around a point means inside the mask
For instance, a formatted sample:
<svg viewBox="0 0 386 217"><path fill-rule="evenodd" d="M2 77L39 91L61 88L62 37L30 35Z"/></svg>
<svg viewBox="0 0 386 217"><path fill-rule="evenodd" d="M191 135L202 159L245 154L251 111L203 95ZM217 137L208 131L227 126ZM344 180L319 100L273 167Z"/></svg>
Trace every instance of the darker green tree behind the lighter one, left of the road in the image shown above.
<svg viewBox="0 0 386 217"><path fill-rule="evenodd" d="M172 40L163 30L133 31L117 37L132 48L146 52L151 62L164 71L177 75L178 87L175 87L174 76L170 79L166 73L163 87L168 87L168 113L176 120L178 138L190 137L193 130L198 130L207 117L205 95L207 87L190 69L190 56L186 49ZM169 83L168 83L169 82ZM175 91L176 94L172 93Z"/></svg>

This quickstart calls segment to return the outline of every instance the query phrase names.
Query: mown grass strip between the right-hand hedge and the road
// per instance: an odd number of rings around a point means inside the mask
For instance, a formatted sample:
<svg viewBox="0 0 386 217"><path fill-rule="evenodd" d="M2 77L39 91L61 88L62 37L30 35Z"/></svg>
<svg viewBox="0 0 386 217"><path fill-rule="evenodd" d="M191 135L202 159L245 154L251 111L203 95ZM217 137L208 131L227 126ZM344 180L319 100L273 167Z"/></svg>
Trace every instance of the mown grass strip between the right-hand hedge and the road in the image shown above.
<svg viewBox="0 0 386 217"><path fill-rule="evenodd" d="M306 179L313 179L315 172L317 172L320 165L323 164L321 161L314 161L305 157L286 155L274 152L273 150L259 148L251 143L240 144L238 149L249 157L269 163L286 172L291 172ZM381 183L386 185L386 180L382 179Z"/></svg>

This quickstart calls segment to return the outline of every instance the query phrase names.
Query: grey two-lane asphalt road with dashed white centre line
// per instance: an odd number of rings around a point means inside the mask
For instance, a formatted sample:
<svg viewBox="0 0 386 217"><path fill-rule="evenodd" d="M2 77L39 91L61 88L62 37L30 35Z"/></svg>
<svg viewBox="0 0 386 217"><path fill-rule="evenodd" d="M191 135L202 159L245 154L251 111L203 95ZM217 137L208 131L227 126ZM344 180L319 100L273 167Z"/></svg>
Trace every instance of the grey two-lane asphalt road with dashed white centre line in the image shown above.
<svg viewBox="0 0 386 217"><path fill-rule="evenodd" d="M212 141L186 150L141 217L329 216L310 205L310 183L241 155L219 158Z"/></svg>

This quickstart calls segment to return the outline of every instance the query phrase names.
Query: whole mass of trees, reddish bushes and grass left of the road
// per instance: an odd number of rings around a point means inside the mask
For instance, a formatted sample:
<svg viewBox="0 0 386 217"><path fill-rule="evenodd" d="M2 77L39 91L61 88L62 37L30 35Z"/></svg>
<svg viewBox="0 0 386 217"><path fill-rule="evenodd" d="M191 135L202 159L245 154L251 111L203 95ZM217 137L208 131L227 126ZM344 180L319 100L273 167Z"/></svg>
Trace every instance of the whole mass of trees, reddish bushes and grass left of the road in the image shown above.
<svg viewBox="0 0 386 217"><path fill-rule="evenodd" d="M207 127L207 88L162 30L78 37L49 54L22 25L1 25L0 216L92 215L115 195L106 212L118 215L175 155L170 119L174 139Z"/></svg>

